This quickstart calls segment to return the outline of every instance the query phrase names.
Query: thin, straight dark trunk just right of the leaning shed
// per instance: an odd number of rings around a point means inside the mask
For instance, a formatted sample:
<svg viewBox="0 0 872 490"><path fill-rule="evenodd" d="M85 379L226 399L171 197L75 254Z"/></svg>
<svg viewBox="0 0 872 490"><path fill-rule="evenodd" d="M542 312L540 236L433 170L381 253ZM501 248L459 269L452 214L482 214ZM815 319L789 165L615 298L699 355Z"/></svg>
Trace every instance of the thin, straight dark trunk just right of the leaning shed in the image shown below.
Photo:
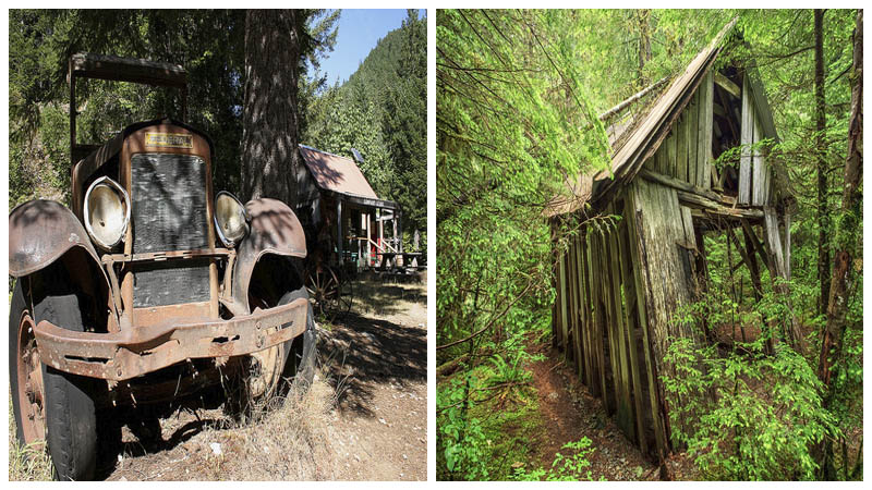
<svg viewBox="0 0 872 490"><path fill-rule="evenodd" d="M829 298L829 209L826 185L826 98L824 96L824 11L814 10L814 122L816 132L815 152L818 155L818 281L821 295L818 301L818 315L826 311Z"/></svg>

